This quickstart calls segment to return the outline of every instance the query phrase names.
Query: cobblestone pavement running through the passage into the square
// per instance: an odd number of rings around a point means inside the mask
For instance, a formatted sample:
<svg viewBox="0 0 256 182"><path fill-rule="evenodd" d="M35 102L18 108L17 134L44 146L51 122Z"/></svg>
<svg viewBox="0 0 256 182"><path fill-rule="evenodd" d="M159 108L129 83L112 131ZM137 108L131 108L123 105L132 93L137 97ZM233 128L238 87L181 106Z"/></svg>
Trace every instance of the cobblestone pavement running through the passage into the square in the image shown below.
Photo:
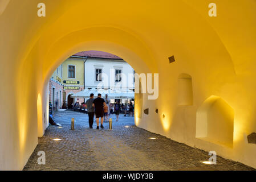
<svg viewBox="0 0 256 182"><path fill-rule="evenodd" d="M70 130L72 117L75 130ZM208 152L140 129L133 117L122 114L118 122L111 117L113 130L108 130L108 123L96 130L96 122L94 129L88 127L87 114L54 113L62 128L47 128L23 170L254 170L220 156L217 165L202 164L209 159ZM46 152L45 165L37 163L38 151Z"/></svg>

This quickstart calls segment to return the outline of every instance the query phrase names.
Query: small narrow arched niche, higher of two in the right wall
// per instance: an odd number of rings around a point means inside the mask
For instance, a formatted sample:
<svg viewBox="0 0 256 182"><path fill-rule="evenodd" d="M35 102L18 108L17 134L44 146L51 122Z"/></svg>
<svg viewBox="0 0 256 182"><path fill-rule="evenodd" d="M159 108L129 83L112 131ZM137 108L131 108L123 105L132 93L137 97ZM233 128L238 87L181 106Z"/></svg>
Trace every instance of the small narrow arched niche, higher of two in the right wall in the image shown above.
<svg viewBox="0 0 256 182"><path fill-rule="evenodd" d="M193 105L192 77L186 73L178 76L178 105Z"/></svg>

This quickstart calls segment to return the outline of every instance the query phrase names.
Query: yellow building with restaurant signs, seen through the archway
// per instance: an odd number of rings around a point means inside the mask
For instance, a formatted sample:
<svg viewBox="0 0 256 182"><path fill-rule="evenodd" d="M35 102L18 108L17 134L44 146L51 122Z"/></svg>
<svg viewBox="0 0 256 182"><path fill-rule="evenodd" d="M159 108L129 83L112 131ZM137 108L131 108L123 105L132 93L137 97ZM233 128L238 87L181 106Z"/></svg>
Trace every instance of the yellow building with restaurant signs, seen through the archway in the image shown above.
<svg viewBox="0 0 256 182"><path fill-rule="evenodd" d="M74 102L80 104L83 98L71 98L72 94L84 89L84 59L71 56L54 71L49 82L50 102L54 109L71 108Z"/></svg>

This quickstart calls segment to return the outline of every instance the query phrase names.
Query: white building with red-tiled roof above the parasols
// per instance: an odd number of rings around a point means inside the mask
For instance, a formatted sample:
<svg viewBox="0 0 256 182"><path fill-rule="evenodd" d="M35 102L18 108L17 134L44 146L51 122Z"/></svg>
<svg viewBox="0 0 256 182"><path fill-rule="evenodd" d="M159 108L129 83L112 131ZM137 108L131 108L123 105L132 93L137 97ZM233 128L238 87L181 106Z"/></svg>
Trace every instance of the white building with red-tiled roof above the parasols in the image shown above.
<svg viewBox="0 0 256 182"><path fill-rule="evenodd" d="M84 51L73 55L84 60L84 89L135 88L134 69L123 59L107 52Z"/></svg>

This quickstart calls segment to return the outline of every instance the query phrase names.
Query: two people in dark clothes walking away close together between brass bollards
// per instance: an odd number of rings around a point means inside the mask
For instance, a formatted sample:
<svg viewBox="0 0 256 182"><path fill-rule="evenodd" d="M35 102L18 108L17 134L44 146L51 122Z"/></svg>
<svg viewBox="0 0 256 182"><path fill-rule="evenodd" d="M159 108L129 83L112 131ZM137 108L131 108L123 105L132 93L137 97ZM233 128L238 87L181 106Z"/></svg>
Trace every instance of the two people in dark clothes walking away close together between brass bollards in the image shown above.
<svg viewBox="0 0 256 182"><path fill-rule="evenodd" d="M108 102L107 94L106 94L106 102ZM108 102L109 103L109 102ZM86 101L86 108L89 116L89 126L92 129L92 125L94 123L94 115L96 116L97 130L99 130L99 118L100 118L100 127L103 127L104 121L104 109L106 109L107 104L105 100L101 98L101 94L99 93L97 98L94 99L94 94L90 94L90 98ZM108 110L108 109L107 109Z"/></svg>

